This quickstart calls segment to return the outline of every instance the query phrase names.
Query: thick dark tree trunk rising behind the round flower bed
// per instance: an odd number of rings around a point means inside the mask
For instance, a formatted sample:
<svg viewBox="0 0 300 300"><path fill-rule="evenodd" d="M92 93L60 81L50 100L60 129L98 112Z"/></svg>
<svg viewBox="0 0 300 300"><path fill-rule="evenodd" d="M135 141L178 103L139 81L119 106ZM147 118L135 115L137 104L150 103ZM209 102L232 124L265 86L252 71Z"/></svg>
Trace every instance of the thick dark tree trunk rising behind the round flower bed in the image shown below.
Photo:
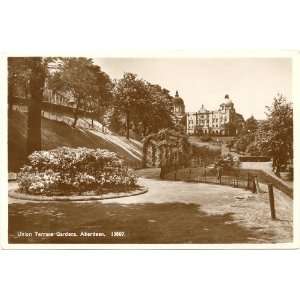
<svg viewBox="0 0 300 300"><path fill-rule="evenodd" d="M41 103L43 99L43 88L45 83L45 70L40 57L31 60L31 75L29 81L30 98L28 105L27 121L27 155L41 150Z"/></svg>

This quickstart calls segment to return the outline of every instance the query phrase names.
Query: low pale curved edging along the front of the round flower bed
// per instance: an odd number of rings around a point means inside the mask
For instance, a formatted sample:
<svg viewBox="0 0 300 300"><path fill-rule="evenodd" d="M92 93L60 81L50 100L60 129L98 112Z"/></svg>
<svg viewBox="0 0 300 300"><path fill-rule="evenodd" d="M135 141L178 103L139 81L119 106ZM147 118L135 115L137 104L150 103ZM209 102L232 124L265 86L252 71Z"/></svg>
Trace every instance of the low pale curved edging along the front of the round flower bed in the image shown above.
<svg viewBox="0 0 300 300"><path fill-rule="evenodd" d="M119 192L119 193L107 193L104 195L97 196L41 196L41 195L29 195L20 193L17 189L8 191L8 196L18 200L29 200L29 201L99 201L109 200L115 198L124 198L129 196L137 196L148 192L148 188L145 186L138 186L135 190L130 192Z"/></svg>

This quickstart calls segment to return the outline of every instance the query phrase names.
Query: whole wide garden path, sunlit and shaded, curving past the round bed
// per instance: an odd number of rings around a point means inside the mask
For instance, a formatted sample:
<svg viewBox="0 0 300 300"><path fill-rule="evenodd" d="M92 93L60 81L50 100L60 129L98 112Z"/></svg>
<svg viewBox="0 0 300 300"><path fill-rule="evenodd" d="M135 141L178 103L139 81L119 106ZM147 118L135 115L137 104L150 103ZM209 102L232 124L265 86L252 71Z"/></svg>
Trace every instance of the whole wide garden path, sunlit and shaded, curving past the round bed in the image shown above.
<svg viewBox="0 0 300 300"><path fill-rule="evenodd" d="M201 183L159 179L159 169L138 170L148 193L88 203L9 200L11 242L27 230L101 230L106 238L46 239L53 243L274 243L291 242L292 201L276 191L278 220L266 195ZM10 184L12 185L12 184ZM52 225L51 225L52 224ZM125 237L109 237L123 230ZM24 242L24 240L22 240ZM25 242L42 242L32 238Z"/></svg>

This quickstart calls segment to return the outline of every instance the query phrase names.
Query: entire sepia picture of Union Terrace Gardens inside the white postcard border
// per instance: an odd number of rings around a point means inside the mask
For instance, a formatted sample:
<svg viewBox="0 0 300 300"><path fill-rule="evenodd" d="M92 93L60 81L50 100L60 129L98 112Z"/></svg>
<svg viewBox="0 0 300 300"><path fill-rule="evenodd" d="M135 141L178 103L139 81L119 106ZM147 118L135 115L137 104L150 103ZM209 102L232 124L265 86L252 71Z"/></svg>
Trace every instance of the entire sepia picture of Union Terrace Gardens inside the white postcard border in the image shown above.
<svg viewBox="0 0 300 300"><path fill-rule="evenodd" d="M292 59L8 57L9 244L286 244Z"/></svg>

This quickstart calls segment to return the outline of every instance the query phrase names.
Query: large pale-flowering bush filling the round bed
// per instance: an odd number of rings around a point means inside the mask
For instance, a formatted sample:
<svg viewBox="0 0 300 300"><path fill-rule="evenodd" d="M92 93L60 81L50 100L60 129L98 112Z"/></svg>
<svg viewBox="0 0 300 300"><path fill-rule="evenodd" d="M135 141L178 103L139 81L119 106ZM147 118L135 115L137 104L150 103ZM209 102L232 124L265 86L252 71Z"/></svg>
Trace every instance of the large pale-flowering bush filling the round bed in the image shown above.
<svg viewBox="0 0 300 300"><path fill-rule="evenodd" d="M114 152L68 147L34 152L17 180L22 192L45 195L101 192L104 188L135 186L137 182Z"/></svg>

